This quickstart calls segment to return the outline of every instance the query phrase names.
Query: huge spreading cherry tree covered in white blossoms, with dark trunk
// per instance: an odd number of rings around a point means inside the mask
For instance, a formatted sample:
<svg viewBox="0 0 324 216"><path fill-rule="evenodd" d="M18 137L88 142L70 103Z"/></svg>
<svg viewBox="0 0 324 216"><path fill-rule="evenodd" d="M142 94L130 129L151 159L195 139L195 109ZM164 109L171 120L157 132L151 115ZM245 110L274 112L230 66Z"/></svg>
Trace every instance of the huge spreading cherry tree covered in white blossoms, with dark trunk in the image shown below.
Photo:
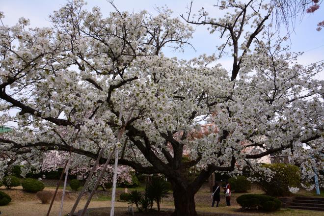
<svg viewBox="0 0 324 216"><path fill-rule="evenodd" d="M270 154L288 156L309 181L323 167L324 90L316 79L323 65L296 63L286 38L267 27L269 5L222 1L230 11L222 18L204 9L192 18L190 8L182 16L225 38L218 56L232 53L226 71L216 56L163 55L165 46L191 46L193 32L167 8L155 17L118 10L104 17L83 4L54 11L52 27L29 28L24 18L0 27L0 119L21 127L0 138L1 164L41 164L44 152L57 150L81 165L102 148L105 163L122 134L119 164L164 174L176 216L197 215L194 194L215 171L235 175L247 166L270 176L258 165ZM195 137L202 119L217 130ZM183 171L193 166L199 174L189 180Z"/></svg>

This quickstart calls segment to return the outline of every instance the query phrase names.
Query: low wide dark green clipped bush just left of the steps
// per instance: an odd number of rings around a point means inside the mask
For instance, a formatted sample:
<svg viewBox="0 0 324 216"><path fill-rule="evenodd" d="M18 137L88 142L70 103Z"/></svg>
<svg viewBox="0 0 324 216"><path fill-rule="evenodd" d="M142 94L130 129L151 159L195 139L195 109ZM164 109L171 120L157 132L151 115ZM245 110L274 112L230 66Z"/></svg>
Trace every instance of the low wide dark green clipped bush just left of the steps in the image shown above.
<svg viewBox="0 0 324 216"><path fill-rule="evenodd" d="M263 194L244 194L236 199L242 209L261 210L272 212L279 210L281 201Z"/></svg>

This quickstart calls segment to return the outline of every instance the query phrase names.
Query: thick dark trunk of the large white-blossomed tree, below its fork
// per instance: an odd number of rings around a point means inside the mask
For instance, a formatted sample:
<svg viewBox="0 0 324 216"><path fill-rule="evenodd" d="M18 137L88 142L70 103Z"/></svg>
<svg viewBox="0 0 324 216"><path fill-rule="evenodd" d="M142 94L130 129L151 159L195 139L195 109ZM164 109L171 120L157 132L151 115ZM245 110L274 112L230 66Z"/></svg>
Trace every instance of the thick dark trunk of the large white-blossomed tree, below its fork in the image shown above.
<svg viewBox="0 0 324 216"><path fill-rule="evenodd" d="M178 189L177 189L178 188ZM194 193L188 189L173 187L174 216L197 216Z"/></svg>

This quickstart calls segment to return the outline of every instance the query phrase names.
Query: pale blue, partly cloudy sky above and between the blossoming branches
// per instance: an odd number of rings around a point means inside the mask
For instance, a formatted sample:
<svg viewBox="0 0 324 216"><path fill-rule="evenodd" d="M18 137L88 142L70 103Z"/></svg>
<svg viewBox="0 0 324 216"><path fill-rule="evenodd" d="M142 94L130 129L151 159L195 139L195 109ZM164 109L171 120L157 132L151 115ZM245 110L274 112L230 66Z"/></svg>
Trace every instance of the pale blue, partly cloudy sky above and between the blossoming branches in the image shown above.
<svg viewBox="0 0 324 216"><path fill-rule="evenodd" d="M4 23L6 25L14 25L20 17L30 19L32 27L49 26L49 14L53 10L57 10L66 0L0 0L0 11L4 12ZM193 10L196 12L201 7L206 8L213 17L220 17L223 11L217 11L213 4L216 0L194 0ZM186 5L190 0L115 0L115 5L120 11L148 10L156 14L155 7L167 5L174 11L173 16L179 17L180 14L186 13ZM88 0L86 8L99 6L103 14L113 11L113 8L106 0ZM299 22L297 20L295 33L291 34L291 51L305 52L298 58L298 63L308 65L324 59L324 30L317 31L316 25L324 19L324 5L320 7L314 14L306 14L304 19ZM191 43L196 52L191 48L187 48L185 53L164 51L167 56L177 56L178 58L190 59L200 54L217 53L216 46L224 41L219 39L217 33L209 34L206 27L195 26L195 33ZM284 31L283 31L284 32ZM230 57L223 57L218 60L226 69L230 70L232 61ZM321 73L320 79L323 78Z"/></svg>

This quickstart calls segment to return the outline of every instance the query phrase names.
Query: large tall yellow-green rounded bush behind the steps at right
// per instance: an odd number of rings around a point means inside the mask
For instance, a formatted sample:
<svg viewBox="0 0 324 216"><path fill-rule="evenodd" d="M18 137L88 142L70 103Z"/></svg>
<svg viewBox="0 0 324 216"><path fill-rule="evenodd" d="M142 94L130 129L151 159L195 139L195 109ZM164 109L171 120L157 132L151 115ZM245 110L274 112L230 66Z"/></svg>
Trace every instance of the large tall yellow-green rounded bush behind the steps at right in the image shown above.
<svg viewBox="0 0 324 216"><path fill-rule="evenodd" d="M289 188L300 186L300 172L297 166L285 163L264 164L262 166L275 172L270 182L260 181L262 189L268 195L289 196L291 195Z"/></svg>

